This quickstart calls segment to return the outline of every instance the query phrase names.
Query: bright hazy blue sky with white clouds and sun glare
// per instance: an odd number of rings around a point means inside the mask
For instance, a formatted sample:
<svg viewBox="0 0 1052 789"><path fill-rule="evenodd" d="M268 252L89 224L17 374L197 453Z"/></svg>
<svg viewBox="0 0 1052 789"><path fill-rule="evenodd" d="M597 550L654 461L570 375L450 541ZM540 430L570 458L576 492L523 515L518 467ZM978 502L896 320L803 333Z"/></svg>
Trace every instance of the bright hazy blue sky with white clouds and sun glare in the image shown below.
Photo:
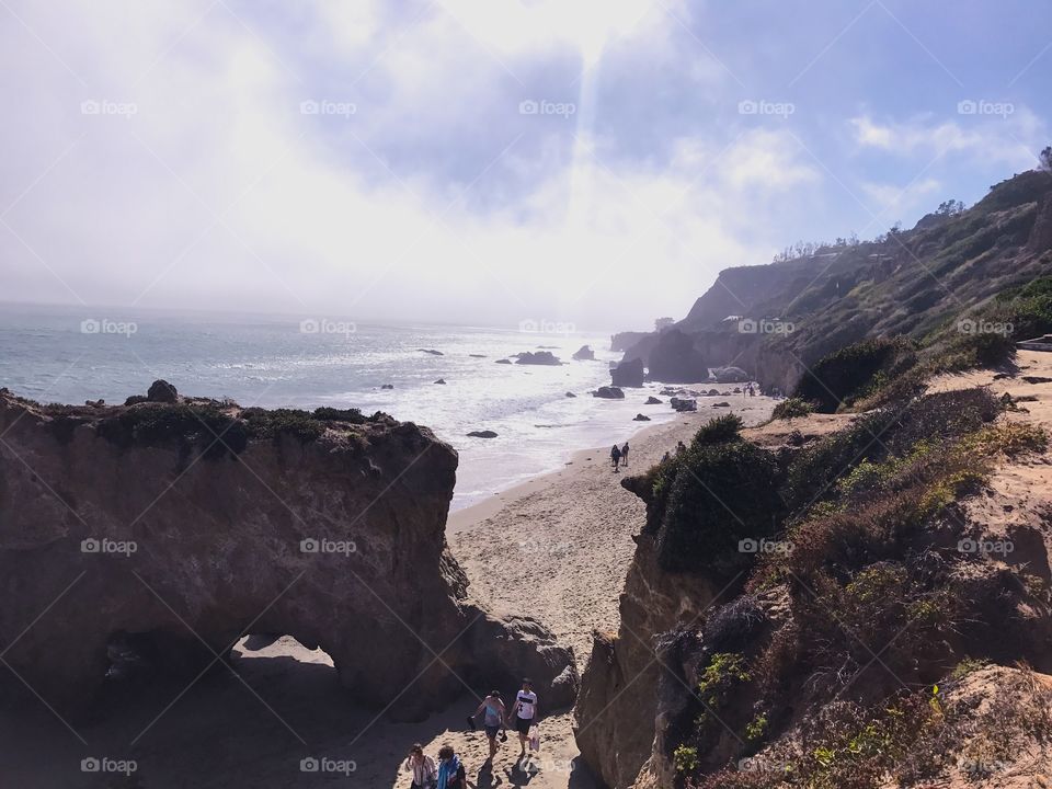
<svg viewBox="0 0 1052 789"><path fill-rule="evenodd" d="M1029 0L0 0L0 301L648 329L1052 142Z"/></svg>

